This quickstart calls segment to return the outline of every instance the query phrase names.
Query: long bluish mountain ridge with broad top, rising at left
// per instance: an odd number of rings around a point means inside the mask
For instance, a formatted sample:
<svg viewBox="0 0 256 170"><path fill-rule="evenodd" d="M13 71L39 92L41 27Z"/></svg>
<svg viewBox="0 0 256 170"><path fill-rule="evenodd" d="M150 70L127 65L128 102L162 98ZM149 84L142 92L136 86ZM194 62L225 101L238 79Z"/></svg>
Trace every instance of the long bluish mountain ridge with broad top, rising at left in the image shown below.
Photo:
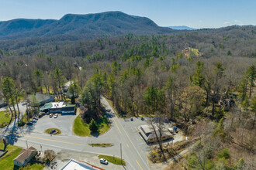
<svg viewBox="0 0 256 170"><path fill-rule="evenodd" d="M87 15L67 14L61 19L13 19L0 22L0 39L21 39L50 36L119 36L167 34L173 29L157 26L146 17L123 12L102 12Z"/></svg>

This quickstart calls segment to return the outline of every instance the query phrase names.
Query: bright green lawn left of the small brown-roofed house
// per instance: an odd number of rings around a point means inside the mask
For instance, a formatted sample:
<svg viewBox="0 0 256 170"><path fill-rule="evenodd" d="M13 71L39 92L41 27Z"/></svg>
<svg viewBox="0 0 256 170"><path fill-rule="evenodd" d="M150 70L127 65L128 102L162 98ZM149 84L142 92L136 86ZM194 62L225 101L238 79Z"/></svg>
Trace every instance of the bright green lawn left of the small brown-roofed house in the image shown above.
<svg viewBox="0 0 256 170"><path fill-rule="evenodd" d="M0 149L3 149L4 145L0 142ZM5 170L12 170L14 168L13 159L19 155L22 148L17 146L8 145L6 150L8 151L2 158L0 158L0 167Z"/></svg>

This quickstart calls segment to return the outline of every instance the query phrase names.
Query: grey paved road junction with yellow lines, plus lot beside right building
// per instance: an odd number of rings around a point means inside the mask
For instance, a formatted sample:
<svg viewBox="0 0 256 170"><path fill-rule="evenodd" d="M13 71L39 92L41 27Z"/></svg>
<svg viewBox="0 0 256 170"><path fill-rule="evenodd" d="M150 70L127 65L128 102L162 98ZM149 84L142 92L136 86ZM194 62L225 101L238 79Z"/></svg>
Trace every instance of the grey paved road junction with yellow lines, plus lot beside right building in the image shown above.
<svg viewBox="0 0 256 170"><path fill-rule="evenodd" d="M16 128L16 134L9 134L7 131L7 133L2 135L5 135L10 144L20 147L26 147L27 141L29 145L33 145L38 150L40 150L40 145L42 145L43 150L50 148L57 152L70 150L92 154L115 155L116 157L120 157L120 144L122 144L123 159L126 160L127 165L126 167L120 166L120 169L150 169L147 162L147 151L149 151L149 148L140 137L140 134L137 133L137 126L147 124L147 122L140 121L139 119L134 119L133 122L128 119L119 119L114 114L107 100L102 98L101 101L103 106L107 110L110 110L109 117L111 117L112 128L106 134L98 137L50 136L49 134L39 133L39 131L36 132L34 126ZM114 146L109 148L95 148L88 145L90 143L103 142L113 143ZM108 169L107 167L104 168Z"/></svg>

